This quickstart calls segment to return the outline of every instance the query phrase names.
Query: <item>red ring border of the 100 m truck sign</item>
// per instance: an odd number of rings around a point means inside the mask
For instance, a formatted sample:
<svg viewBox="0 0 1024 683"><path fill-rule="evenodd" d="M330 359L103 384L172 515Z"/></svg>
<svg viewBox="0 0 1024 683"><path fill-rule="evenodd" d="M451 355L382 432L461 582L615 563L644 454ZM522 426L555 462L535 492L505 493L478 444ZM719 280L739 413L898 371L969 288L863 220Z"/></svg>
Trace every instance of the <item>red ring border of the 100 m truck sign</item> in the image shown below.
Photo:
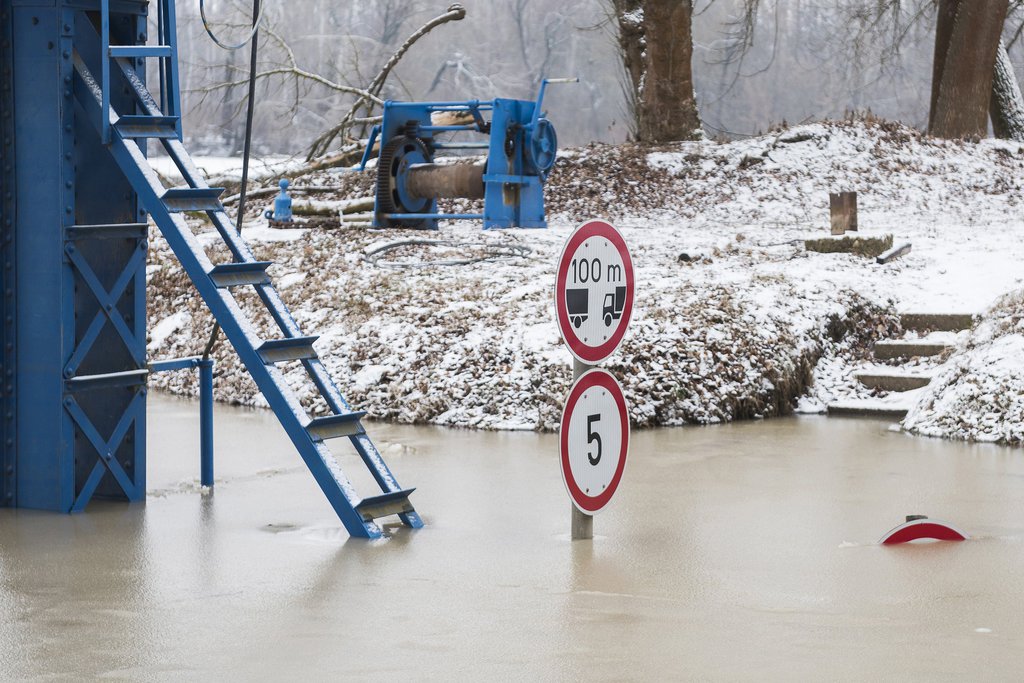
<svg viewBox="0 0 1024 683"><path fill-rule="evenodd" d="M587 346L580 341L580 338L577 337L575 332L572 330L572 325L569 323L569 312L565 307L565 283L568 280L569 264L571 263L571 258L569 257L575 253L577 247L581 243L593 237L604 238L615 246L618 256L623 259L623 268L626 270L626 287L628 288L626 292L626 305L623 307L623 317L618 324L618 328L611 336L611 339L600 346ZM558 331L561 333L562 339L565 341L565 345L568 346L572 355L583 362L593 366L601 362L615 352L615 349L623 342L623 337L626 336L626 329L630 326L630 318L633 314L634 289L633 259L630 258L630 250L627 249L623 236L611 223L606 223L603 220L589 220L569 236L569 239L565 242L565 246L562 247L562 255L558 258L558 271L555 276L555 316L558 323ZM559 296L559 293L561 296Z"/></svg>

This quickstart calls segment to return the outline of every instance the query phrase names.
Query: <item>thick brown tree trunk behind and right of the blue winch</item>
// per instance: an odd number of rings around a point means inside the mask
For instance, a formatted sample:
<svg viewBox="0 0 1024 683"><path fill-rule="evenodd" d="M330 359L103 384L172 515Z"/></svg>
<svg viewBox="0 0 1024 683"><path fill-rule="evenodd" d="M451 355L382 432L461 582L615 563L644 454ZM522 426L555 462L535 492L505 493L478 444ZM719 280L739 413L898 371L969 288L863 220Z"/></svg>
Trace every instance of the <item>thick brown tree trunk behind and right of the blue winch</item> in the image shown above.
<svg viewBox="0 0 1024 683"><path fill-rule="evenodd" d="M699 135L693 96L692 0L614 0L623 63L632 82L637 139Z"/></svg>

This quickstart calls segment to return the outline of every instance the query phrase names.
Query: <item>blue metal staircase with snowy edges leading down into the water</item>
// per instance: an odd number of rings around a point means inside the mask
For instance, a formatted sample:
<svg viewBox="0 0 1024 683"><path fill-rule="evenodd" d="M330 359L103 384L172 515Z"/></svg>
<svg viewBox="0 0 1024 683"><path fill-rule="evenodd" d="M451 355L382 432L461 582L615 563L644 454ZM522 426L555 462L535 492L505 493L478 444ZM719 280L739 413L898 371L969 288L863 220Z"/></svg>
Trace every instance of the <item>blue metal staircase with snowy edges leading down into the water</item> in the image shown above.
<svg viewBox="0 0 1024 683"><path fill-rule="evenodd" d="M411 527L422 520L409 500L413 488L401 488L360 422L366 415L352 411L313 349L316 337L304 336L266 272L234 229L220 203L223 191L210 187L181 143L181 110L177 78L174 0L159 0L159 45L110 44L110 0L100 1L98 35L79 36L73 54L75 95L115 161L167 240L203 300L281 420L296 450L348 532L378 538L375 521L398 515ZM94 41L95 50L90 41ZM96 80L83 54L99 54ZM145 85L145 59L160 59L160 101ZM95 67L95 63L93 63ZM111 106L111 89L128 87L135 96L134 112ZM174 160L186 187L164 187L145 158L147 139L159 140ZM141 145L141 146L140 146ZM231 254L226 263L213 263L181 216L205 211ZM280 337L263 339L232 293L254 288L272 316ZM280 364L299 360L327 402L332 415L310 418L289 388ZM328 449L326 441L347 437L379 484L380 495L361 498Z"/></svg>

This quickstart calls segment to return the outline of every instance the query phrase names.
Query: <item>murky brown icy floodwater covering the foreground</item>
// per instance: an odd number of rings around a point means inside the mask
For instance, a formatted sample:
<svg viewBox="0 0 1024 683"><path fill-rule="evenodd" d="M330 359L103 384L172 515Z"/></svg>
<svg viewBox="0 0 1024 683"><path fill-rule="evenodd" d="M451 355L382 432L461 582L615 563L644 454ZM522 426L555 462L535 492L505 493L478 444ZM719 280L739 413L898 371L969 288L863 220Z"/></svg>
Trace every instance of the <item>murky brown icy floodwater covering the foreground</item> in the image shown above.
<svg viewBox="0 0 1024 683"><path fill-rule="evenodd" d="M366 542L266 412L218 405L201 495L198 424L151 394L145 505L0 510L0 678L1024 672L1020 450L820 417L636 432L570 542L553 435L371 423L427 526ZM907 514L974 538L874 545Z"/></svg>

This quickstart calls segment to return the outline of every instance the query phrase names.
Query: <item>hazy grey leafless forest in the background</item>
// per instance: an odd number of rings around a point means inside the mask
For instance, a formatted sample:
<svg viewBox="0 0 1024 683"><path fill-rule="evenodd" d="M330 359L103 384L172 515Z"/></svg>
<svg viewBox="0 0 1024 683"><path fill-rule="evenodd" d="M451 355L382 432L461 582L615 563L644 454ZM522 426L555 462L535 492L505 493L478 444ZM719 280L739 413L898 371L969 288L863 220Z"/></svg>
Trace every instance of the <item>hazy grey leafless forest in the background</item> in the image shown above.
<svg viewBox="0 0 1024 683"><path fill-rule="evenodd" d="M865 110L927 126L935 29L930 2L907 3L899 20L868 26L856 18L863 1L762 0L751 33L743 24L748 1L695 3L693 78L709 135L751 135L781 122ZM630 116L609 0L462 4L466 18L421 39L392 74L385 98L532 98L542 77L579 76L580 84L552 88L546 99L560 144L627 139ZM445 0L267 1L259 71L294 68L328 83L365 86L410 33L445 7ZM207 2L226 40L244 36L250 10L249 0ZM193 2L178 5L178 33L188 141L199 152L237 154L249 51L215 46ZM1006 38L1019 66L1024 53L1014 36ZM281 74L261 79L256 101L255 151L300 154L337 122L352 96Z"/></svg>

